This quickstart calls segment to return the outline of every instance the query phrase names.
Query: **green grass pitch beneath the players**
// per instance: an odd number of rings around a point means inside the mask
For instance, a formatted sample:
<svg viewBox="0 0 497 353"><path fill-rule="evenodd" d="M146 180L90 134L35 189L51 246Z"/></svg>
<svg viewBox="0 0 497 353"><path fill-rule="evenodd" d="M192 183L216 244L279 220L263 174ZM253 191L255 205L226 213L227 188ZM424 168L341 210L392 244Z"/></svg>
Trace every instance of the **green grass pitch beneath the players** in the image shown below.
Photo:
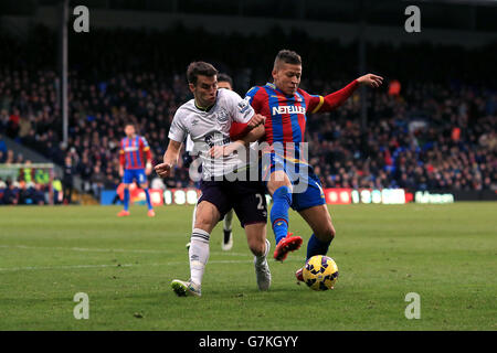
<svg viewBox="0 0 497 353"><path fill-rule="evenodd" d="M253 257L237 220L234 247L211 236L202 298L178 298L188 279L190 206L0 207L0 330L496 330L497 204L330 206L337 228L329 256L336 289L296 284L310 232L298 214L290 231L303 247L269 260L273 285L256 288ZM274 250L274 236L267 231ZM89 299L76 320L74 296ZM404 315L405 295L421 318Z"/></svg>

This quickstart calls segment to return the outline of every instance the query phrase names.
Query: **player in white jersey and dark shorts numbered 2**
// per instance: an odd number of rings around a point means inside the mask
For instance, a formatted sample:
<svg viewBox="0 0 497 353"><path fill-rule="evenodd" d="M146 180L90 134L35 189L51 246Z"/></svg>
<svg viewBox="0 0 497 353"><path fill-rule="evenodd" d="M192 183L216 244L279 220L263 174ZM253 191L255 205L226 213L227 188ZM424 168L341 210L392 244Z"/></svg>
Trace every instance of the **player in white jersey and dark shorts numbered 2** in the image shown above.
<svg viewBox="0 0 497 353"><path fill-rule="evenodd" d="M271 272L266 256L271 244L266 239L267 206L264 184L261 181L230 180L239 170L247 170L247 161L237 153L214 158L215 146L233 146L230 128L233 121L247 124L251 132L243 142L247 146L264 135L265 118L256 115L251 105L236 93L218 90L218 71L209 63L193 62L187 71L189 88L194 99L183 104L175 114L169 129L169 146L163 163L156 165L161 178L169 175L177 163L181 143L187 135L194 142L202 161L202 192L198 203L194 228L191 234L189 260L190 279L171 282L178 296L201 296L202 277L209 259L210 234L225 213L234 208L245 229L248 247L254 254L256 281L260 290L271 286ZM254 161L257 163L257 160Z"/></svg>

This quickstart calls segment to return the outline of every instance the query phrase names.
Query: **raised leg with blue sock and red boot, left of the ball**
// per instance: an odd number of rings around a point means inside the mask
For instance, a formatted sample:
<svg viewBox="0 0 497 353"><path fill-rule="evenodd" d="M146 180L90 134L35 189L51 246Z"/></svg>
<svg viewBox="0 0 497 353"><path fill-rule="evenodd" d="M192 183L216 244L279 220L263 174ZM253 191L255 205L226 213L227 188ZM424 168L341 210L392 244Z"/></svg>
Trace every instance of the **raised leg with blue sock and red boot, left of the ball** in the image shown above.
<svg viewBox="0 0 497 353"><path fill-rule="evenodd" d="M274 258L283 261L289 252L298 249L302 237L288 233L288 210L292 205L292 182L284 170L276 170L269 175L267 191L273 197L271 208L271 225L276 239Z"/></svg>

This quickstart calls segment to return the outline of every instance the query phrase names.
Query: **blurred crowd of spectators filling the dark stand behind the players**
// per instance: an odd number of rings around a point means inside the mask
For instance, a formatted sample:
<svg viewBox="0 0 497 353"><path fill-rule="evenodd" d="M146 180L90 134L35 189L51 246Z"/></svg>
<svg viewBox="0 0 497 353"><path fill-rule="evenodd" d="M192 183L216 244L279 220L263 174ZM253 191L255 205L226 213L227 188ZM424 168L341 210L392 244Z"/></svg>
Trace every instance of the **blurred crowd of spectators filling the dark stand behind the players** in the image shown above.
<svg viewBox="0 0 497 353"><path fill-rule="evenodd" d="M40 31L41 35L43 31L47 30ZM89 49L80 45L88 38L70 39L67 146L61 142L59 81L47 56L54 45L50 42L33 61L6 55L0 66L0 133L68 168L81 176L82 189L95 195L120 182L118 148L125 121L136 122L155 162L161 160L175 111L191 98L184 76L191 60L211 61L232 75L234 89L242 96L252 85L268 81L272 62L282 47L303 53L300 87L310 94L329 94L358 76L353 46L311 40L303 33L271 36L271 45L253 36L215 36L182 28L88 35L94 43ZM205 41L195 41L200 47L194 52L173 50L199 35ZM0 41L9 44L10 39L0 36ZM36 36L30 41L36 43ZM325 188L497 190L494 64L488 75L480 67L484 64L468 60L472 53L424 45L421 50L426 53L456 54L455 63L444 66L438 56L420 58L413 54L420 51L417 45L369 47L368 72L387 79L383 87L367 89L368 119L362 119L359 92L335 111L308 116L310 162ZM29 54L24 46L13 47ZM264 50L267 47L274 51ZM226 49L233 55L223 54ZM207 54L199 57L198 53ZM489 55L486 60L494 58ZM464 69L457 73L454 67ZM0 151L0 162L13 159L7 154ZM152 186L161 184L154 182ZM182 160L163 182L168 188L194 185Z"/></svg>

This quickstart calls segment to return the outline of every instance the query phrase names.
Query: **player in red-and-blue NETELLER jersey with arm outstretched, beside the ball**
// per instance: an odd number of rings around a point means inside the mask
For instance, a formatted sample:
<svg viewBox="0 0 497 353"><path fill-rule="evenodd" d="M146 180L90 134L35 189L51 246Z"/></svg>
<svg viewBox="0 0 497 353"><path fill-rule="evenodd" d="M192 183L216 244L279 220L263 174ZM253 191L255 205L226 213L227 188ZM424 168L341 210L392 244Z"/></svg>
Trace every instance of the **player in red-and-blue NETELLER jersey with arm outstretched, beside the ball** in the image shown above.
<svg viewBox="0 0 497 353"><path fill-rule="evenodd" d="M293 236L288 232L289 207L297 211L313 229L307 258L326 255L335 237L321 183L300 148L305 148L307 114L336 109L359 85L376 88L383 81L381 76L367 74L340 90L320 96L310 95L298 87L302 72L300 56L293 51L282 50L274 62L273 83L251 88L245 97L255 113L266 117L264 127L268 148L262 153L261 170L273 197L269 217L276 238L274 258L281 261L303 243L300 236ZM239 130L243 131L241 128ZM302 280L302 269L297 270L296 277Z"/></svg>

